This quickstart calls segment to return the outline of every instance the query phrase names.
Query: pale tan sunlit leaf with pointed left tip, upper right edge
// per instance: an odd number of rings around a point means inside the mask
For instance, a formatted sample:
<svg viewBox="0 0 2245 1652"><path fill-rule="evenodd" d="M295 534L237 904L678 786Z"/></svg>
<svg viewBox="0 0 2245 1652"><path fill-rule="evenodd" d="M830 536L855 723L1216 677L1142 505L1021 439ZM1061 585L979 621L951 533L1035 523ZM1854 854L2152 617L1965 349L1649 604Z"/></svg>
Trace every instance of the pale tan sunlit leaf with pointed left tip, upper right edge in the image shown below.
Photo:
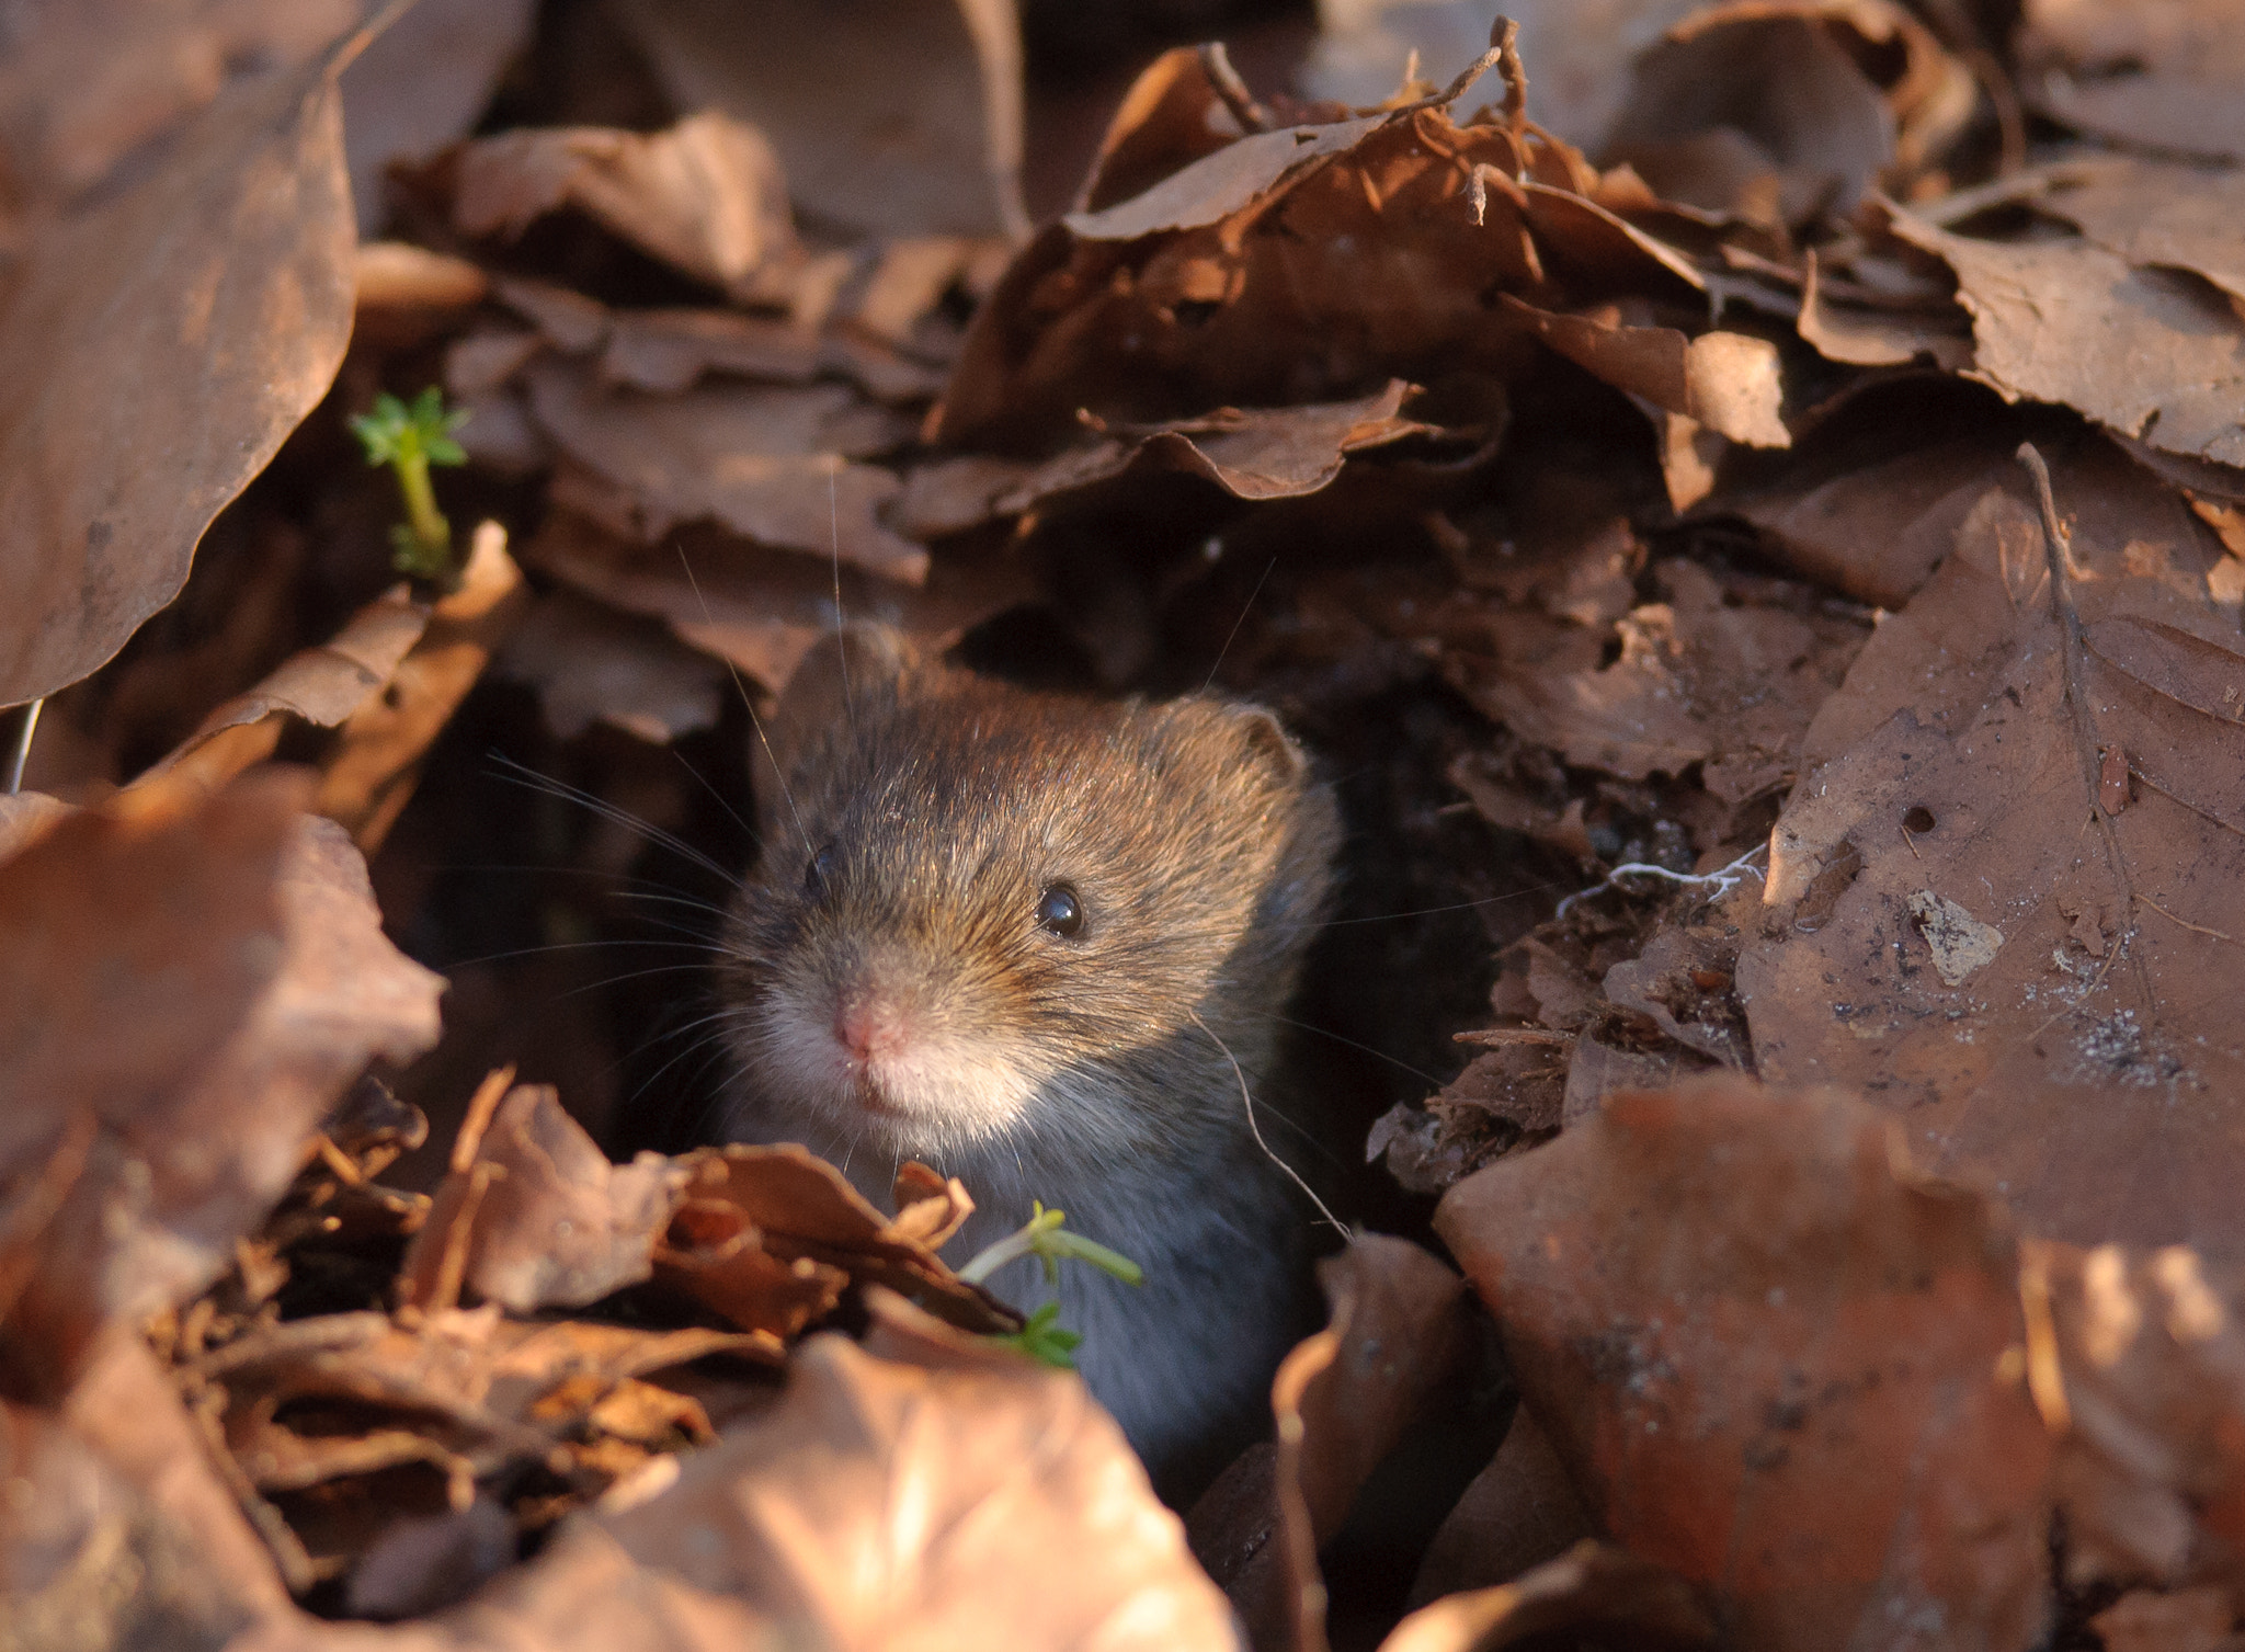
<svg viewBox="0 0 2245 1652"><path fill-rule="evenodd" d="M2245 465L2245 316L2193 276L2092 240L1978 240L1897 211L1895 233L1958 272L1973 377L2079 409L2169 453Z"/></svg>

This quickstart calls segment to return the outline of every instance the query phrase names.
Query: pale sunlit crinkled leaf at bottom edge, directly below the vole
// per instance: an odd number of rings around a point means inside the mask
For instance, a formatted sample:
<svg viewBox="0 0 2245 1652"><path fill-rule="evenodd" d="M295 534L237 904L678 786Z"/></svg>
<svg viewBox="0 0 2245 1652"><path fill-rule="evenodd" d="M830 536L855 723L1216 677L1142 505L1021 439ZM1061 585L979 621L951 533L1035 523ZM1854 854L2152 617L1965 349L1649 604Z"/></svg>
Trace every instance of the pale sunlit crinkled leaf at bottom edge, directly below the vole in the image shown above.
<svg viewBox="0 0 2245 1652"><path fill-rule="evenodd" d="M1237 1645L1082 1383L1004 1356L927 1371L815 1338L766 1419L662 1497L586 1524L539 1569L579 1564L579 1542L620 1544L743 1600L770 1634L837 1648ZM712 1542L682 1542L696 1531ZM1071 1564L1039 1560L1053 1553Z"/></svg>

